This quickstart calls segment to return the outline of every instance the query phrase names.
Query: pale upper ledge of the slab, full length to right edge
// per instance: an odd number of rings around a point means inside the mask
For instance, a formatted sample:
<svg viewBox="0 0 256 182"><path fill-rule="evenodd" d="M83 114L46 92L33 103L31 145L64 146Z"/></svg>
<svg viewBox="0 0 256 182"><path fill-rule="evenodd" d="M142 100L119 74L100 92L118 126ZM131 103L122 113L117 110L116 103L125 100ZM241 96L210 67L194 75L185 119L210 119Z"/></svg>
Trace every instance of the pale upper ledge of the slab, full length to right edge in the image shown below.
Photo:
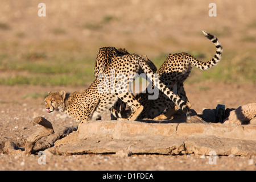
<svg viewBox="0 0 256 182"><path fill-rule="evenodd" d="M256 125L221 123L148 123L138 121L94 121L81 125L79 138L216 137L256 140Z"/></svg>

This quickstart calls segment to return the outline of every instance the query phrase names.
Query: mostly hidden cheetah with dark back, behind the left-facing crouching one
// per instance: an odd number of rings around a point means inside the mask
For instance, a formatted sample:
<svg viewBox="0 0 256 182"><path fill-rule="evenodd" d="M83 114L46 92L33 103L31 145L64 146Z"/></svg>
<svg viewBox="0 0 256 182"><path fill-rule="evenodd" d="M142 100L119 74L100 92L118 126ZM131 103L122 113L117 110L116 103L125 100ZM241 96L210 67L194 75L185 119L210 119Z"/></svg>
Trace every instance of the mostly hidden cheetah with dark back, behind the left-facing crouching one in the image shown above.
<svg viewBox="0 0 256 182"><path fill-rule="evenodd" d="M95 61L94 67L94 76L97 79L100 73L103 73L104 70L108 67L108 65L114 60L116 56L129 55L130 53L125 48L116 49L115 47L101 47L98 51L98 55ZM151 60L148 59L146 55L141 55L142 59L146 61L146 63L150 66L152 71L155 73L157 71L156 66L152 63ZM142 70L139 71L138 74L143 73ZM126 104L118 99L113 106L115 110L125 110ZM113 116L111 113L111 120L116 120L117 118Z"/></svg>

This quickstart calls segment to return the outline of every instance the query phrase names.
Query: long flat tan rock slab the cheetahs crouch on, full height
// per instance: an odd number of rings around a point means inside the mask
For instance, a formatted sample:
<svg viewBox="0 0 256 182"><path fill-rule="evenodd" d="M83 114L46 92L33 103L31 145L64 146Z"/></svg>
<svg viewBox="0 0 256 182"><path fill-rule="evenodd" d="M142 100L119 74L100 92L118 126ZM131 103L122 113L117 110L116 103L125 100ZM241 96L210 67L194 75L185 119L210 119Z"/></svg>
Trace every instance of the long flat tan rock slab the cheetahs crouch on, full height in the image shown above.
<svg viewBox="0 0 256 182"><path fill-rule="evenodd" d="M94 121L57 140L53 154L256 155L256 125ZM212 153L211 153L212 154Z"/></svg>

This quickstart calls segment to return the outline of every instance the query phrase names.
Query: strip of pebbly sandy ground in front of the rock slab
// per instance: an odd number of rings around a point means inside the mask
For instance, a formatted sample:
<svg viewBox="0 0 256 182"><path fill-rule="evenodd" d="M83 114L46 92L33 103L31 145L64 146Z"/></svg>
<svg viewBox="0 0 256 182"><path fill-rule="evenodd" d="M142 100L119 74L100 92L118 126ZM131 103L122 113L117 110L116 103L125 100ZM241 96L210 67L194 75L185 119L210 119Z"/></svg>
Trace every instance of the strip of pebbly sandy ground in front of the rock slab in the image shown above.
<svg viewBox="0 0 256 182"><path fill-rule="evenodd" d="M38 162L39 161L39 162ZM162 156L133 155L122 158L114 155L72 155L46 156L46 164L38 156L0 155L1 170L256 170L256 158L253 157L217 157L205 156ZM210 162L209 162L210 161Z"/></svg>

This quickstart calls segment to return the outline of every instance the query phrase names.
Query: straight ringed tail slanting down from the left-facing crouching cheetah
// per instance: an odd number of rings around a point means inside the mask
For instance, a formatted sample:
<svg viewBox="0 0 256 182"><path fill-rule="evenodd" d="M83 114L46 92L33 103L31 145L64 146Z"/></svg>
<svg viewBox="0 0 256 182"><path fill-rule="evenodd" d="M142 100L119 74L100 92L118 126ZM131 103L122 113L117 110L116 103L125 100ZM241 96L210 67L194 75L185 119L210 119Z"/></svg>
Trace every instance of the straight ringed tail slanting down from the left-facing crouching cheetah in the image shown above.
<svg viewBox="0 0 256 182"><path fill-rule="evenodd" d="M191 111L189 111L189 107L187 104L180 99L178 95L172 92L166 85L163 84L161 80L159 80L158 74L154 73L152 69L143 61L143 59L139 59L139 65L141 66L143 72L147 75L147 77L154 83L156 88L161 90L171 101L173 101L177 106L181 108L183 113L186 113L187 118L190 119Z"/></svg>

